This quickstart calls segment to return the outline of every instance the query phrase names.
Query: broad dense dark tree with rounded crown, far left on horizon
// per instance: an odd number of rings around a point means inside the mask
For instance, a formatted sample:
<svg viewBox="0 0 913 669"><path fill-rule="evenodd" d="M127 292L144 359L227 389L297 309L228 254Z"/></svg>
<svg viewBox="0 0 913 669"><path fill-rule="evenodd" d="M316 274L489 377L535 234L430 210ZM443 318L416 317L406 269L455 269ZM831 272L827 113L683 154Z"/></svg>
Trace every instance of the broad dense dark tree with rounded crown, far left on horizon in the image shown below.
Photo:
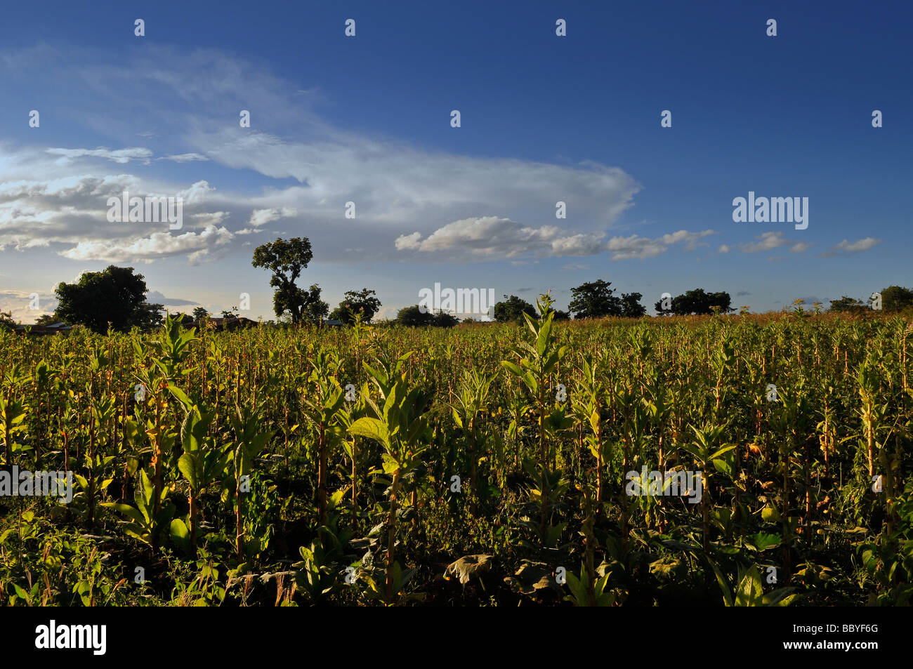
<svg viewBox="0 0 913 669"><path fill-rule="evenodd" d="M106 332L108 325L121 332L133 326L151 329L162 322L161 304L146 302L146 282L132 267L111 265L101 272L86 272L78 283L60 283L55 289L58 308L54 319Z"/></svg>

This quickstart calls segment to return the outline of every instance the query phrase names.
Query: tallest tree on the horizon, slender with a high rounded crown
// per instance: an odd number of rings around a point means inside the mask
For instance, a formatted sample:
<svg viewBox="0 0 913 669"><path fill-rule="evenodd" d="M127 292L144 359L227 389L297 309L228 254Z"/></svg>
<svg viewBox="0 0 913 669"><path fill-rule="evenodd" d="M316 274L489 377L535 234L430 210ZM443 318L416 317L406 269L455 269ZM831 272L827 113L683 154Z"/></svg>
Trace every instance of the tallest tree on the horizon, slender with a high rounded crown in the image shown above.
<svg viewBox="0 0 913 669"><path fill-rule="evenodd" d="M295 283L313 256L307 237L277 239L254 249L251 265L273 273L269 279L269 285L276 288L273 292L273 311L278 317L288 311L294 325L301 322L302 311L313 305L309 301L313 298L310 291L302 290ZM317 299L320 300L320 290L317 291Z"/></svg>

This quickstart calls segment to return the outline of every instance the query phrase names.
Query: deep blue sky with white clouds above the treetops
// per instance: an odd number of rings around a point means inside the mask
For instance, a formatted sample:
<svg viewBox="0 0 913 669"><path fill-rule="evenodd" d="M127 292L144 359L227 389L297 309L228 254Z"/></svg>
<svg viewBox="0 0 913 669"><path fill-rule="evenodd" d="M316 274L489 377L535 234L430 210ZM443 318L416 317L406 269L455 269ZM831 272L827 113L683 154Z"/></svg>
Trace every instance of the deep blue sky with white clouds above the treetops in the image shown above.
<svg viewBox="0 0 913 669"><path fill-rule="evenodd" d="M911 286L913 10L810 5L10 6L0 310L31 322L116 264L173 310L246 292L273 318L250 257L279 236L311 241L300 285L331 306L371 287L382 317L436 282L560 306L596 278L648 307L705 287L755 311ZM109 223L124 189L182 197L182 229ZM750 191L807 197L808 228L733 222Z"/></svg>

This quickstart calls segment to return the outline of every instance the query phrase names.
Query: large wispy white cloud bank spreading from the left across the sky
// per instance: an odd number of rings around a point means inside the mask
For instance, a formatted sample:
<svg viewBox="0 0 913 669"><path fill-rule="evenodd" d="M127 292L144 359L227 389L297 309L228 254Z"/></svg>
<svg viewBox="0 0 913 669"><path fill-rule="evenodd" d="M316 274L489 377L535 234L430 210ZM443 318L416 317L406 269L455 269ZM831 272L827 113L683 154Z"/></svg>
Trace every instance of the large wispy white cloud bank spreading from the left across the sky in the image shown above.
<svg viewBox="0 0 913 669"><path fill-rule="evenodd" d="M312 110L318 94L296 93L297 83L289 85L257 63L215 49L152 45L122 61L96 58L88 64L86 56L47 47L19 63L19 74L43 80L54 71L64 82L79 80L79 87L67 90L88 91L93 105L109 113L101 119L74 110L74 120L117 138L121 148L109 148L113 140L97 148L4 146L0 248L51 246L66 257L132 255L145 262L154 259L153 249L173 254L161 235L137 238L135 226L107 223L107 197L127 190L182 197L184 232L197 236L211 227L225 229L226 219L243 224L230 232L230 244L220 246L244 245L277 216L294 215L307 220L307 234L324 260L370 262L433 249L446 249L455 258L589 256L606 250L604 231L633 206L640 189L623 169L592 161L468 156L343 131ZM221 112L214 111L235 109L249 99L270 110L257 130L226 127ZM131 146L138 129L125 120L138 115L142 127L154 130L141 133L151 148ZM188 187L163 177L167 162L201 162L206 180ZM138 163L150 167L140 172ZM236 170L257 172L256 183L266 185L258 191L226 190L219 179L223 174L234 179ZM270 178L284 181L270 184ZM572 229L565 221L540 225L543 216L555 220L558 200L568 204ZM358 219L346 220L342 235L342 204L348 201L357 203ZM496 235L488 242L472 235L472 225L463 230L454 225L486 219L499 222L492 224ZM699 237L676 235L663 243L698 244ZM347 252L352 239L363 253ZM187 256L205 255L186 241L177 247Z"/></svg>

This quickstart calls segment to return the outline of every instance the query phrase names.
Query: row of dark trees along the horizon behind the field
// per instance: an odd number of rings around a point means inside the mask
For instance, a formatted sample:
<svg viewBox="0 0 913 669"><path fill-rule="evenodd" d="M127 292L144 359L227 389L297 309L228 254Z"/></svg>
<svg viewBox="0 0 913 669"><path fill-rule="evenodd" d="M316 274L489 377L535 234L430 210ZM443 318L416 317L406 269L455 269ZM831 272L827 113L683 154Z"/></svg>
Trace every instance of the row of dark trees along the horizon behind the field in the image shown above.
<svg viewBox="0 0 913 669"><path fill-rule="evenodd" d="M251 264L271 273L269 285L273 291L273 311L278 322L298 326L304 323L317 324L325 319L339 321L346 325L355 322L370 323L383 306L377 293L370 288L348 290L339 306L330 311L330 305L320 298L320 286L316 283L308 288L298 286L301 272L308 267L313 252L307 237L277 239L257 246ZM162 324L164 306L146 301L146 283L142 274L134 274L133 267L111 265L100 272L86 272L79 280L68 284L60 283L55 289L58 307L53 314L37 320L37 325L64 322L68 325L82 325L95 332L108 329L127 331L131 328L153 329ZM572 299L567 311L554 309L556 320L601 319L620 317L639 319L646 315L646 308L640 303L641 293L617 293L611 281L597 279L571 288ZM890 286L864 302L843 296L831 301L831 311L857 312L873 308L886 311L900 311L913 307L913 290L906 287ZM664 294L654 305L657 316L687 316L712 313L729 313L731 298L726 291L707 292L703 288L687 290L672 297ZM237 309L228 309L222 316L236 316ZM523 314L536 316L536 308L516 295L505 295L497 302L491 316L498 322L521 321ZM203 321L209 318L205 308L194 309L193 318ZM471 318L464 322L473 321ZM394 323L414 327L452 328L459 322L453 314L445 311L425 311L419 305L399 310ZM10 313L0 313L0 328L14 327Z"/></svg>

